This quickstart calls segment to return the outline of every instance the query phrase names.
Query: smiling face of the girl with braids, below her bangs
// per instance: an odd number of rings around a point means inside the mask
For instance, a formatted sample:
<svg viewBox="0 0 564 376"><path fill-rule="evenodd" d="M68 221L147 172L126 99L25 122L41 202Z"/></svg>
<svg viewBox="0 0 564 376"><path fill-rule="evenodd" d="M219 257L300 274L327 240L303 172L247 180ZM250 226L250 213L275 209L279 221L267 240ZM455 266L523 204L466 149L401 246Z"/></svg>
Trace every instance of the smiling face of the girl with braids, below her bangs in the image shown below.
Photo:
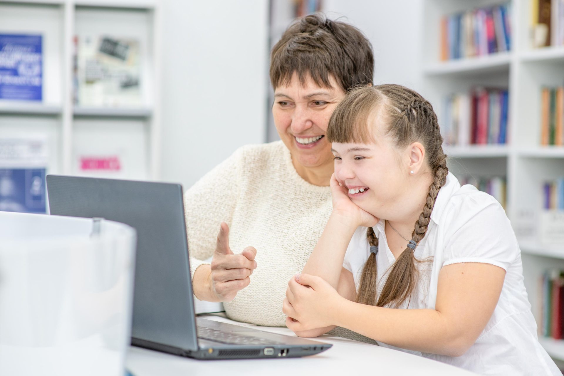
<svg viewBox="0 0 564 376"><path fill-rule="evenodd" d="M333 143L335 176L360 209L391 219L402 211L402 197L409 193L409 155L398 151L386 136L374 139L371 144Z"/></svg>

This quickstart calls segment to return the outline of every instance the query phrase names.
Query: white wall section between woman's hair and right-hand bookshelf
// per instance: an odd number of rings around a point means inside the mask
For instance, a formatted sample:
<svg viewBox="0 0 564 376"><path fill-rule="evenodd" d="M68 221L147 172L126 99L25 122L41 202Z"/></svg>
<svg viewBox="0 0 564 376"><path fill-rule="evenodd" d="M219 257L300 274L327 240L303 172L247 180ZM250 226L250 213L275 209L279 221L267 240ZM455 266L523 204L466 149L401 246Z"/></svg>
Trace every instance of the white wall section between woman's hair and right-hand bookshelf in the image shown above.
<svg viewBox="0 0 564 376"><path fill-rule="evenodd" d="M355 25L374 49L374 82L398 83L420 91L422 76L422 0L324 0L331 19Z"/></svg>

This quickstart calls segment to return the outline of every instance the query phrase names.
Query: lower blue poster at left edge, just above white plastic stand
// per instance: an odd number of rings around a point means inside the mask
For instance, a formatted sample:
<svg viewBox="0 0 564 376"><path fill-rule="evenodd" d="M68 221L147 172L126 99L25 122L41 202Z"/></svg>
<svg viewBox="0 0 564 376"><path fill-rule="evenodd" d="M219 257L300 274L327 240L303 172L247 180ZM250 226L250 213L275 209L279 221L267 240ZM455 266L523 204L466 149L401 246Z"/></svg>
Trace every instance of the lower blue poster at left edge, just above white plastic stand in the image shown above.
<svg viewBox="0 0 564 376"><path fill-rule="evenodd" d="M45 169L0 169L0 210L46 213Z"/></svg>

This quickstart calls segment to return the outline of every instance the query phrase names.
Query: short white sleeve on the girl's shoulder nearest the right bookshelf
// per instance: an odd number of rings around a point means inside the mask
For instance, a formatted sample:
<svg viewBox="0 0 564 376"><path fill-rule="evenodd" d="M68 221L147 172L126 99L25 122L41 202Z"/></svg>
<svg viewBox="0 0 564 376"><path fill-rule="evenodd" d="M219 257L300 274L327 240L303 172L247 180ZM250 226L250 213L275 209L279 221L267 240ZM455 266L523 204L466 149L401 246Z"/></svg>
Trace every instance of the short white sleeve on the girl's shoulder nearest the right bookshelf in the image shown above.
<svg viewBox="0 0 564 376"><path fill-rule="evenodd" d="M446 222L443 266L475 262L507 270L519 256L503 207L487 193L474 191L462 198Z"/></svg>

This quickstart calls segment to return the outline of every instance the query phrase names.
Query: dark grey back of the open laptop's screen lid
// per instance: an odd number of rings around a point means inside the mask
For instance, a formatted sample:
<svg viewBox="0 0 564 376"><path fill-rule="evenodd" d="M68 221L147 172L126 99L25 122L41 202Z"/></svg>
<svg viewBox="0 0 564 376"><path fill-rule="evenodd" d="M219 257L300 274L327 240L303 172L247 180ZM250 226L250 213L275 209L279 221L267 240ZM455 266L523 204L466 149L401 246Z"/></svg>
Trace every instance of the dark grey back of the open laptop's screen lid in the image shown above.
<svg viewBox="0 0 564 376"><path fill-rule="evenodd" d="M131 337L197 350L180 184L47 175L53 215L102 217L137 230Z"/></svg>

